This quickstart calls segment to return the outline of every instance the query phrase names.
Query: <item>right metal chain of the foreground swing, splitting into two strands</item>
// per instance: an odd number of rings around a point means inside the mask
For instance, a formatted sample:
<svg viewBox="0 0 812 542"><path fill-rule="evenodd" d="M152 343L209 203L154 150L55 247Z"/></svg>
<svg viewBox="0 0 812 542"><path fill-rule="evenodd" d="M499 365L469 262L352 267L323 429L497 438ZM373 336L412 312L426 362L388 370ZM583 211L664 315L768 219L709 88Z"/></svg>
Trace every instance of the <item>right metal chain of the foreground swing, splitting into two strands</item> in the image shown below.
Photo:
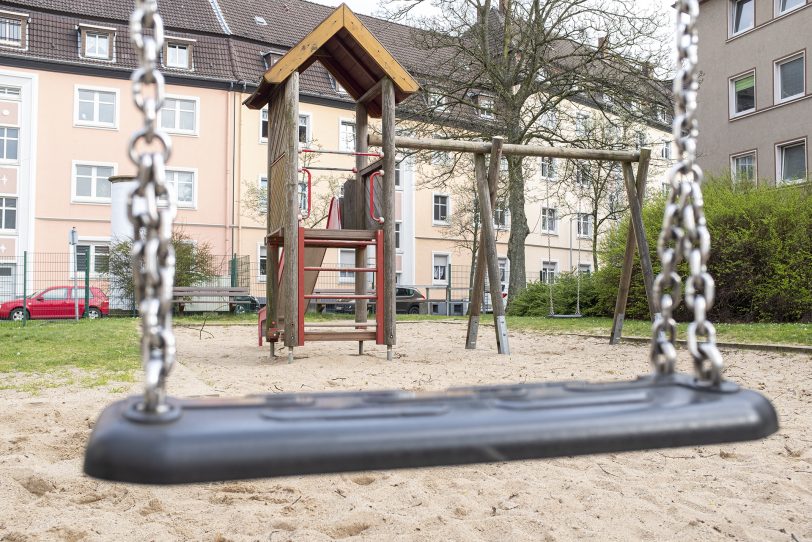
<svg viewBox="0 0 812 542"><path fill-rule="evenodd" d="M707 271L710 234L702 198L703 173L696 163L696 97L698 0L678 0L677 76L674 78L674 141L678 163L669 172L671 190L665 206L663 228L657 242L662 271L654 282L654 295L660 299L660 313L653 325L651 362L659 374L673 373L677 351L677 322L674 308L682 296L682 278L677 273L681 261L688 262L685 304L693 311L688 326L688 350L694 360L698 380L718 385L722 380L722 355L716 346L716 329L707 320L713 305L714 281Z"/></svg>

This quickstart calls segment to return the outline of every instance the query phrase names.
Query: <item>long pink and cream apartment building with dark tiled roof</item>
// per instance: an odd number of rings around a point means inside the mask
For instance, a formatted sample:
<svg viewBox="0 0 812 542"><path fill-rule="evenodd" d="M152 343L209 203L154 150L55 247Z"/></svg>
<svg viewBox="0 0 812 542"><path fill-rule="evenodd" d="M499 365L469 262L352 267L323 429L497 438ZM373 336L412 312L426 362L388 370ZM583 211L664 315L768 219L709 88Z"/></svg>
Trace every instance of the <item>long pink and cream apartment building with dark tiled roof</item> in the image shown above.
<svg viewBox="0 0 812 542"><path fill-rule="evenodd" d="M104 275L111 239L108 179L135 171L126 147L139 127L139 113L130 97L136 62L127 25L130 5L97 4L0 1L0 282L5 274L14 276L14 258L23 251L67 252L71 227L79 232L80 257L90 259L93 274ZM160 124L173 138L168 175L178 196L177 222L216 254L250 257L260 293L267 265L257 194L267 188L267 113L242 102L267 67L333 8L302 0L162 0L160 9L167 35L161 51L167 100ZM418 77L423 73L425 51L413 45L412 29L361 19L408 70ZM302 147L352 148L354 106L329 73L311 66L302 76L301 93ZM433 97L424 93L414 99ZM594 114L587 103L572 107L582 111L582 119ZM487 107L481 114L487 120ZM671 163L667 122L654 119L637 128L638 144L654 148L653 189L661 186ZM342 156L308 160L327 167L354 165ZM459 195L426 185L431 175L426 167L436 165L417 157L399 164L395 220L403 284L442 287L449 265L470 264L470 254L450 228L461 207ZM544 197L563 169L554 162L527 164L530 277L552 280L557 273L579 270L579 262L580 271L592 269L594 224L586 209L567 212ZM469 173L459 176L465 181ZM310 204L311 222L322 217L329 196L340 195L346 178L315 175L310 202L303 185L302 205ZM622 186L619 176L617 182ZM506 280L510 217L498 211L495 220ZM336 249L328 252L327 263L352 265L352 257ZM339 275L339 284L342 278L351 280ZM19 293L14 284L5 289L0 295Z"/></svg>

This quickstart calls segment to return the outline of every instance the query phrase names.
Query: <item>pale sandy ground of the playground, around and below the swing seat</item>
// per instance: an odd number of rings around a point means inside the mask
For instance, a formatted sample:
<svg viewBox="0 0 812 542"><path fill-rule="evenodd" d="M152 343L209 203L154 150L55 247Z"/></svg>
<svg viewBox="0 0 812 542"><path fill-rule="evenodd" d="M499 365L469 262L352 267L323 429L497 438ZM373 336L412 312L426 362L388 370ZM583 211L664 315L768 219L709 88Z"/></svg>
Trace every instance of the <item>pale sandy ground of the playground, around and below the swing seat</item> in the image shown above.
<svg viewBox="0 0 812 542"><path fill-rule="evenodd" d="M271 362L251 327L180 329L176 395L627 379L647 346L492 328L401 325L397 359L316 343ZM0 391L0 540L812 540L812 360L725 352L727 376L763 391L781 429L763 441L573 459L280 478L185 487L89 479L82 454L107 389ZM688 367L681 352L681 366ZM131 392L137 392L138 385Z"/></svg>

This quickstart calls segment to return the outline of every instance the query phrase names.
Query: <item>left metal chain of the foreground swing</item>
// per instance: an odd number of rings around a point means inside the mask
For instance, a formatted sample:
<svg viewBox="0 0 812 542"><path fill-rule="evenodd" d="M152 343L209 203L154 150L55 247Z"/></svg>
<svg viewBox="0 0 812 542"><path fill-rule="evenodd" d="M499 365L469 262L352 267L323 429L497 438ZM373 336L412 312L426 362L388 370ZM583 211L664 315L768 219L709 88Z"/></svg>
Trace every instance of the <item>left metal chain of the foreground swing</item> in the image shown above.
<svg viewBox="0 0 812 542"><path fill-rule="evenodd" d="M166 378L175 361L172 222L176 206L166 184L165 169L172 142L157 126L164 102L164 78L158 71L164 26L157 0L135 1L130 36L139 64L131 78L133 101L144 120L143 127L129 142L130 160L138 168L138 186L127 200L127 213L133 225L133 279L141 317L141 361L145 373L144 400L139 407L148 413L162 413L168 409Z"/></svg>

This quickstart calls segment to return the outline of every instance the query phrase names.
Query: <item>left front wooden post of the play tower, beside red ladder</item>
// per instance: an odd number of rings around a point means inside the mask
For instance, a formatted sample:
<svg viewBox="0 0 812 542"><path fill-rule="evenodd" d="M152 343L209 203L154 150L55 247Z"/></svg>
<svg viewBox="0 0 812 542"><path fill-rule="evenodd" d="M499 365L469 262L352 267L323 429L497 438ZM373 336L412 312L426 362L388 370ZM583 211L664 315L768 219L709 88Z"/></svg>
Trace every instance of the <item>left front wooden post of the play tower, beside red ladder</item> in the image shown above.
<svg viewBox="0 0 812 542"><path fill-rule="evenodd" d="M299 344L299 303L298 289L304 288L299 284L298 269L299 258L299 73L294 72L285 82L284 107L282 113L285 130L289 133L281 142L285 152L285 199L287 200L287 217L285 220L285 268L283 279L285 281L285 346L288 347L288 362L293 361L293 347Z"/></svg>

